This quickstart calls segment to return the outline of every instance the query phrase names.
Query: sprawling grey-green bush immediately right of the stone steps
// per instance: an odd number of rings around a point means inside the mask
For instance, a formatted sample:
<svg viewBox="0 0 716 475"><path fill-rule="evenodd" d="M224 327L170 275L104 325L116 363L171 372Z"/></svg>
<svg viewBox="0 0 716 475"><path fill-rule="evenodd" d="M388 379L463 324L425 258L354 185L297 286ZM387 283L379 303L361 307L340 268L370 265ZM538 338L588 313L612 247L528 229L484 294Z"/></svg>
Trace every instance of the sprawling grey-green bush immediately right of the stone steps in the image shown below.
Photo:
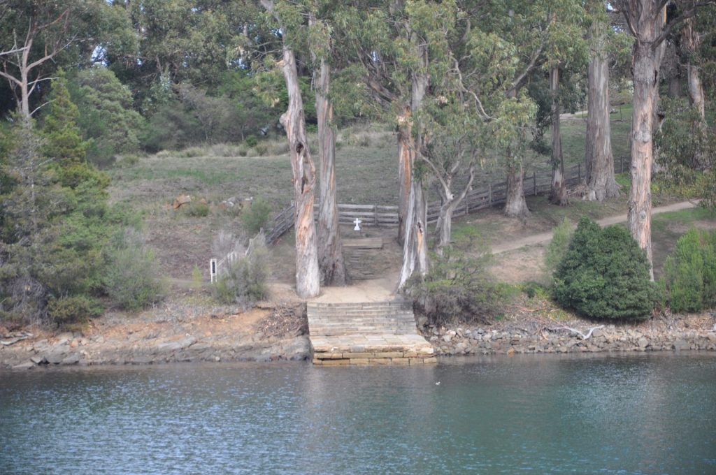
<svg viewBox="0 0 716 475"><path fill-rule="evenodd" d="M488 273L492 255L480 243L474 230L432 255L430 270L413 275L405 284L405 294L430 323L443 325L455 320L487 322L506 298L504 286L494 283Z"/></svg>

